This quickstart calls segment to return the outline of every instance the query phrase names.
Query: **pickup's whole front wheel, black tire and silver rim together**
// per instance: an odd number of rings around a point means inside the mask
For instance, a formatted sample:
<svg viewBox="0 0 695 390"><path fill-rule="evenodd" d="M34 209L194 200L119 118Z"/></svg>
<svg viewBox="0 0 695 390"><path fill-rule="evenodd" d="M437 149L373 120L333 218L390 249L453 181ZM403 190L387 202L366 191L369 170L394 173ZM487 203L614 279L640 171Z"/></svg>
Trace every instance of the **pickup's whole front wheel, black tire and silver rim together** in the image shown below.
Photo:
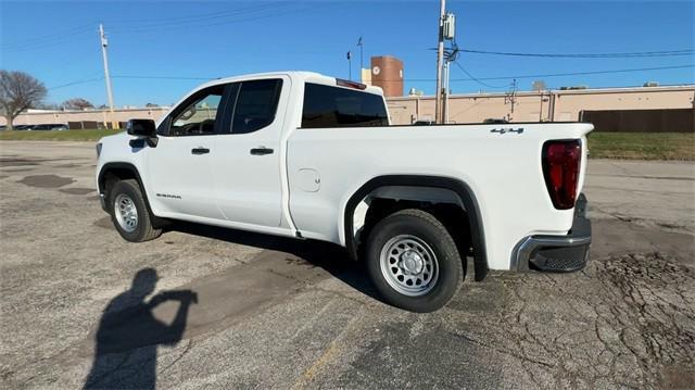
<svg viewBox="0 0 695 390"><path fill-rule="evenodd" d="M121 237L131 242L160 237L162 229L152 227L152 215L137 180L116 181L110 194L111 221Z"/></svg>

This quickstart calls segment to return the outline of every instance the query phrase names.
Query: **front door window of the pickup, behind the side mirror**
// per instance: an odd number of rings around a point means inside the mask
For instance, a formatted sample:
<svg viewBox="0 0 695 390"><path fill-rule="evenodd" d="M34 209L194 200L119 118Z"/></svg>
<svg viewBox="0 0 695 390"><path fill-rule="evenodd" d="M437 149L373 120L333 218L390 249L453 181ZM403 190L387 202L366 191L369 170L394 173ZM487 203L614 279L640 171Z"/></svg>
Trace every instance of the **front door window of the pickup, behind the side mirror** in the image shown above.
<svg viewBox="0 0 695 390"><path fill-rule="evenodd" d="M210 135L215 133L217 109L222 102L225 86L214 86L192 96L167 119L168 135L174 137Z"/></svg>

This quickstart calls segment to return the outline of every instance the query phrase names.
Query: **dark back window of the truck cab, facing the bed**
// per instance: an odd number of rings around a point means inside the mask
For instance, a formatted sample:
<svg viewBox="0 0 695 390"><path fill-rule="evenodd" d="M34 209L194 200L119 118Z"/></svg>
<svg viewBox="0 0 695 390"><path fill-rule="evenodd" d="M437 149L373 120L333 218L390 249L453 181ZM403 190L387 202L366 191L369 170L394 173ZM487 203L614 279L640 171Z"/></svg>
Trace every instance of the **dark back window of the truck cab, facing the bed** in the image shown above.
<svg viewBox="0 0 695 390"><path fill-rule="evenodd" d="M389 116L381 96L306 83L302 128L367 126L389 126Z"/></svg>

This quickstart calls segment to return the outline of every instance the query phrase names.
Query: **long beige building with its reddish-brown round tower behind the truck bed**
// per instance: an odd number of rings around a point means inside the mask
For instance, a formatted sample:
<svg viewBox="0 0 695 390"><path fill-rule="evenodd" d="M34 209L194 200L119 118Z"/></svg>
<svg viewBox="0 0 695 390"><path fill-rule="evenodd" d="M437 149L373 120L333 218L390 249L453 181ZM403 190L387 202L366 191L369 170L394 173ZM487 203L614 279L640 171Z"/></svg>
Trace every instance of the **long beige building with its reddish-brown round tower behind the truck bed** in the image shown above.
<svg viewBox="0 0 695 390"><path fill-rule="evenodd" d="M433 96L403 96L403 62L372 56L362 81L383 89L391 122L434 121ZM593 122L604 131L695 131L695 85L541 89L536 91L451 95L445 123Z"/></svg>

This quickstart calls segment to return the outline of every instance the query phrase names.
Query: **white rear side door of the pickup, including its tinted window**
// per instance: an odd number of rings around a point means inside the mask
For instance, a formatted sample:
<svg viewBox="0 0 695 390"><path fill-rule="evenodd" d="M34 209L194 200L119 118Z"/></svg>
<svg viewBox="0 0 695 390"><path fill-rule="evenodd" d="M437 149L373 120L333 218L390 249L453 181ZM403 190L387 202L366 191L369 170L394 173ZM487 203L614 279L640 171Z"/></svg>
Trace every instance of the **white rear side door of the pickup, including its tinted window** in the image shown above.
<svg viewBox="0 0 695 390"><path fill-rule="evenodd" d="M289 77L275 77L232 86L212 154L217 204L229 222L280 226L280 137L289 84Z"/></svg>

